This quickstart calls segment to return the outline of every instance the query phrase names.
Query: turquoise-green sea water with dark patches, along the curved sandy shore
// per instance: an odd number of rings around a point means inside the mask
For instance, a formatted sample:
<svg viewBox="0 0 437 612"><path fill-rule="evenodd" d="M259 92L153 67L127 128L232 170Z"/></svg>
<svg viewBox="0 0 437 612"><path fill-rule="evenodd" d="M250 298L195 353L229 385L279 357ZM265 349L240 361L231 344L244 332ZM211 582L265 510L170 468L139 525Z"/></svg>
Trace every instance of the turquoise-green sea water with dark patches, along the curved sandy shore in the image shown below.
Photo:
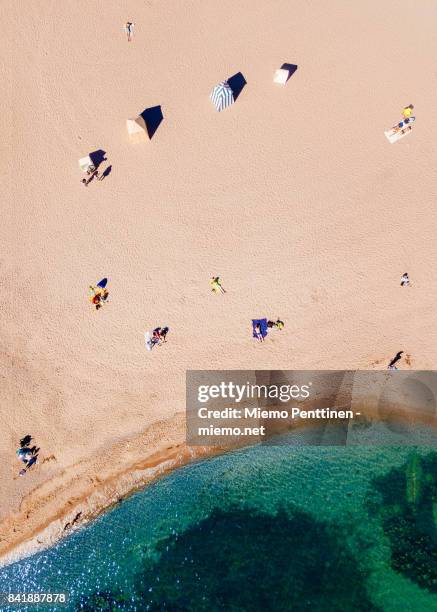
<svg viewBox="0 0 437 612"><path fill-rule="evenodd" d="M0 591L69 592L52 610L437 611L436 524L431 448L252 447L3 568Z"/></svg>

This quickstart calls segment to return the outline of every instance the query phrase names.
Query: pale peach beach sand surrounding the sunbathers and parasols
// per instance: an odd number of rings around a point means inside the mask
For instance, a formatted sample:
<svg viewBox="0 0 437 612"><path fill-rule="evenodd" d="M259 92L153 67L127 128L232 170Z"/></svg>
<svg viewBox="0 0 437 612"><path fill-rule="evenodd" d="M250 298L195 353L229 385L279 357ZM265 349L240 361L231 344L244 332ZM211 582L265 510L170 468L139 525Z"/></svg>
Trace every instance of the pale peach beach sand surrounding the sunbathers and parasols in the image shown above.
<svg viewBox="0 0 437 612"><path fill-rule="evenodd" d="M0 554L187 460L188 368L385 367L401 349L435 366L433 0L1 13ZM283 62L299 66L285 87ZM217 113L210 91L238 71ZM391 145L410 102L413 132ZM126 118L157 104L155 137L131 144ZM78 159L100 148L112 173L84 188ZM264 345L262 316L286 323ZM148 353L156 325L168 342ZM18 478L27 433L41 462Z"/></svg>

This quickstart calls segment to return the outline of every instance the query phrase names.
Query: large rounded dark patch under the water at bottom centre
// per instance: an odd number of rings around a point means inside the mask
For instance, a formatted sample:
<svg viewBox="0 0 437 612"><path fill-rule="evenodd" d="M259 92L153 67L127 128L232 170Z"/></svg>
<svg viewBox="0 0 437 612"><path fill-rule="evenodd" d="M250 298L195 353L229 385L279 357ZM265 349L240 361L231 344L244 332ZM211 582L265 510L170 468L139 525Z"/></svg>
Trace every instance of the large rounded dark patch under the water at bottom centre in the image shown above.
<svg viewBox="0 0 437 612"><path fill-rule="evenodd" d="M162 540L157 550L158 560L145 561L135 576L136 604L118 593L113 608L98 609L379 610L342 529L296 509L274 515L250 508L215 509L185 532ZM111 605L108 593L82 598L81 605L94 605L97 596L100 606Z"/></svg>

